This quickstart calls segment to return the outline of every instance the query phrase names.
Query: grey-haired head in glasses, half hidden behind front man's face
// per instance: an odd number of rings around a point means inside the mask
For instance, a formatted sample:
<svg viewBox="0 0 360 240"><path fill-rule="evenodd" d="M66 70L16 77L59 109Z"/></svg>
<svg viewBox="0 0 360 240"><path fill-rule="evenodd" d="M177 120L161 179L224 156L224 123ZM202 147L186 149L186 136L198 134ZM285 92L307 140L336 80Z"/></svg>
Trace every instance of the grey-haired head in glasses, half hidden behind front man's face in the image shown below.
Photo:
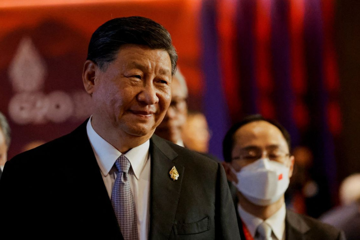
<svg viewBox="0 0 360 240"><path fill-rule="evenodd" d="M185 78L179 68L172 77L171 102L166 115L155 134L172 143L184 146L182 131L188 114L188 87Z"/></svg>

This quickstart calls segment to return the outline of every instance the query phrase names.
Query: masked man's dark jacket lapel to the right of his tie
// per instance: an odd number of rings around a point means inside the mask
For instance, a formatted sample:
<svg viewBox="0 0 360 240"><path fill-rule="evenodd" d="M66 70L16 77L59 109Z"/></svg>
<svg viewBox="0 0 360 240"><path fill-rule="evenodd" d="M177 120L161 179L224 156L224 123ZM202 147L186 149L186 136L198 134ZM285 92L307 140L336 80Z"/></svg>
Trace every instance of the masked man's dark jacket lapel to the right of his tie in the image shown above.
<svg viewBox="0 0 360 240"><path fill-rule="evenodd" d="M286 210L286 240L305 240L305 233L310 229L306 222L296 213Z"/></svg>

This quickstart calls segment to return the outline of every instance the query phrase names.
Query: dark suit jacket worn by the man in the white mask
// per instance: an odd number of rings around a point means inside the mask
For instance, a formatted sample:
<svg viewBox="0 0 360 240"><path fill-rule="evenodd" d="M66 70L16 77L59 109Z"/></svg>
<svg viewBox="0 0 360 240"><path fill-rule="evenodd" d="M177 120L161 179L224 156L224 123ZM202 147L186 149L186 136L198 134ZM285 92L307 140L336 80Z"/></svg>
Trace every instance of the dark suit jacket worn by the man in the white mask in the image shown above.
<svg viewBox="0 0 360 240"><path fill-rule="evenodd" d="M230 185L230 184L229 184ZM236 218L241 239L246 240L242 230L242 221L237 211L238 198L234 195L234 186L230 186ZM236 189L236 188L235 188ZM285 240L345 240L345 235L339 229L293 211L286 210Z"/></svg>

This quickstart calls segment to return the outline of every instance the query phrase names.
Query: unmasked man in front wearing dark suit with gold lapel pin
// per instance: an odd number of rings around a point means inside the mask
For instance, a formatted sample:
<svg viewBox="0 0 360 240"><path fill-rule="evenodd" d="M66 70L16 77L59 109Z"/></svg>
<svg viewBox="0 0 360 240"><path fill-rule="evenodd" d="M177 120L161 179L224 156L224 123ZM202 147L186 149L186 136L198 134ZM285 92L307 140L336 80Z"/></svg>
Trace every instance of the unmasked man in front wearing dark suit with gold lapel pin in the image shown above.
<svg viewBox="0 0 360 240"><path fill-rule="evenodd" d="M3 239L240 239L222 165L153 135L176 60L168 31L147 18L93 33L92 116L7 162Z"/></svg>

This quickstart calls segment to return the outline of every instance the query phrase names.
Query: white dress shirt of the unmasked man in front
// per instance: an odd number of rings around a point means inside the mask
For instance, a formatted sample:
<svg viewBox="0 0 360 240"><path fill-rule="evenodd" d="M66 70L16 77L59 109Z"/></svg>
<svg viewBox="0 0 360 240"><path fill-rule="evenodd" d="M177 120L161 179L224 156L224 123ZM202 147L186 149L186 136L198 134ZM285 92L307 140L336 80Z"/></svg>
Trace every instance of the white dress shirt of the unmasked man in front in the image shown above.
<svg viewBox="0 0 360 240"><path fill-rule="evenodd" d="M114 166L121 152L97 134L91 125L91 117L86 125L91 147L99 165L102 179L111 198L118 170ZM149 197L150 197L150 140L129 150L124 155L129 159L130 188L135 200L137 230L139 240L147 240L149 234Z"/></svg>

